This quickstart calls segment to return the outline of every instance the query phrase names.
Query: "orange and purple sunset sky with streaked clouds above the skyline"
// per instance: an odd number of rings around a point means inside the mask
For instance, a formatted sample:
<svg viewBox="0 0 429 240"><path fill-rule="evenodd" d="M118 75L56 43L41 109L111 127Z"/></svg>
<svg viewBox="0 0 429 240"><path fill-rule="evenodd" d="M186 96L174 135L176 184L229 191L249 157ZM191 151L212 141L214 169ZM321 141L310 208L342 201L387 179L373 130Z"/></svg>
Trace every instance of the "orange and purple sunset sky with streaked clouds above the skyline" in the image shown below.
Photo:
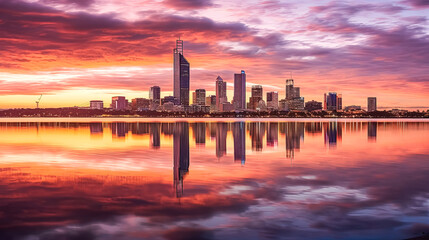
<svg viewBox="0 0 429 240"><path fill-rule="evenodd" d="M184 40L191 91L233 74L305 101L429 107L429 1L0 0L0 108L88 106L172 95ZM192 95L192 94L191 94Z"/></svg>

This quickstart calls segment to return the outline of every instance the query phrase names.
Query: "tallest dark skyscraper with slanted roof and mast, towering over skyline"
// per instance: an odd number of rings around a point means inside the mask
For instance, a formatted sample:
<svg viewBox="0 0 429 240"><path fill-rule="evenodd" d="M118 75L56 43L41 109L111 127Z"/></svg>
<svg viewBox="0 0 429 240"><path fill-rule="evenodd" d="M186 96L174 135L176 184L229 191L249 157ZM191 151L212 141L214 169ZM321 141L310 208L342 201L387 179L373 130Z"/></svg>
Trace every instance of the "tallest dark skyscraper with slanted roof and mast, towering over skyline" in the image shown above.
<svg viewBox="0 0 429 240"><path fill-rule="evenodd" d="M179 99L180 105L189 105L189 62L183 56L183 41L176 40L174 55L174 89L173 95Z"/></svg>

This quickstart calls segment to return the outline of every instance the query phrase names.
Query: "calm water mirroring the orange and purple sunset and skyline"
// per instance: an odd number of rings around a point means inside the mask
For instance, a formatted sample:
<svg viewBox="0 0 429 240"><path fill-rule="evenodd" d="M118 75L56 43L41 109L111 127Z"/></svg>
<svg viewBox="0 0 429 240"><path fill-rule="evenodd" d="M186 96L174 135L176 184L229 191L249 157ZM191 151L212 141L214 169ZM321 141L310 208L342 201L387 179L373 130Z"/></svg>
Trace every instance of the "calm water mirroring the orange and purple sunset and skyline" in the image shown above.
<svg viewBox="0 0 429 240"><path fill-rule="evenodd" d="M0 123L0 239L429 232L429 121L85 121Z"/></svg>

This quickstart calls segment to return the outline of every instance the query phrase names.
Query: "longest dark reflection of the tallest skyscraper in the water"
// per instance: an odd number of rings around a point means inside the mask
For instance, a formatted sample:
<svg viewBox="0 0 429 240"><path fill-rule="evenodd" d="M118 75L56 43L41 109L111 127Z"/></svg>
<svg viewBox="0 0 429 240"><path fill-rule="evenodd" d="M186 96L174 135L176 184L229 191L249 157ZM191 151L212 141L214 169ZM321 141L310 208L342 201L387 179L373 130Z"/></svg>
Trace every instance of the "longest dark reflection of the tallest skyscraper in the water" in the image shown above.
<svg viewBox="0 0 429 240"><path fill-rule="evenodd" d="M183 196L183 179L189 172L189 123L174 125L173 133L174 188L176 197Z"/></svg>

